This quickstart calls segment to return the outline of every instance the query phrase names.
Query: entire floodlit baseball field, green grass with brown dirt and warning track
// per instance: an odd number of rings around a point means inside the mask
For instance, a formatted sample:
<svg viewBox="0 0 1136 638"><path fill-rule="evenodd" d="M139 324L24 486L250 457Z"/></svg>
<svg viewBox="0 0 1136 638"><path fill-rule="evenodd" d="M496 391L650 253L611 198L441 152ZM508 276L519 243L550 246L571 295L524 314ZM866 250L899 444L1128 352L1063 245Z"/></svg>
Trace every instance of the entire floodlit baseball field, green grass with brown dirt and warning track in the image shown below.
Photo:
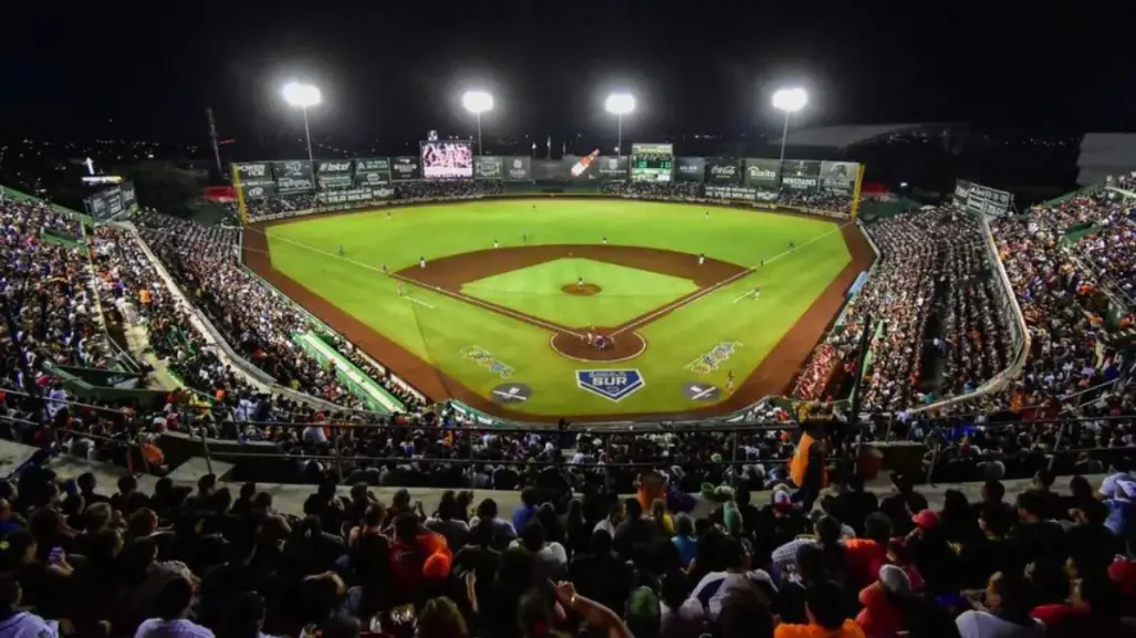
<svg viewBox="0 0 1136 638"><path fill-rule="evenodd" d="M617 199L244 234L251 269L432 398L529 420L720 414L784 392L871 257L854 224Z"/></svg>

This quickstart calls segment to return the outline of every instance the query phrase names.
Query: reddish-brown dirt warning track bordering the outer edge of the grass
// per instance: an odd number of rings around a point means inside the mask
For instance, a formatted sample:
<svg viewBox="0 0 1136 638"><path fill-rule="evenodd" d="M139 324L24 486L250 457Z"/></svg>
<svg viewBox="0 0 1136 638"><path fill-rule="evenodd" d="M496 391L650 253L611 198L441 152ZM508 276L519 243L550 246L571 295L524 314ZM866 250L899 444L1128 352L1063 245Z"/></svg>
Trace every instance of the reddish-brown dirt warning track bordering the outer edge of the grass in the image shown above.
<svg viewBox="0 0 1136 638"><path fill-rule="evenodd" d="M408 211L412 207L408 208ZM345 211L345 212L334 212L323 215L320 217L331 217L339 215L359 215L360 211ZM807 216L802 213L788 213L796 217L809 217L812 219L820 219L812 216ZM242 235L242 261L250 270L262 277L265 280L270 283L277 289L279 289L285 295L293 299L296 303L306 308L312 314L319 317L320 320L326 322L333 329L339 331L345 338L354 343L356 346L362 349L365 352L370 354L375 360L385 366L391 372L398 375L404 379L408 384L416 387L423 394L429 396L434 401L443 401L445 398L459 400L475 410L481 410L488 414L494 414L504 419L513 419L518 421L528 422L548 422L554 423L559 420L559 417L541 417L537 414L528 414L523 412L517 412L515 410L509 410L500 404L496 404L488 398L479 395L473 389L465 386L461 381L446 375L445 372L434 368L426 361L419 359L412 352L406 350L398 343L386 338L382 334L375 331L373 328L362 324L351 314L329 303L327 300L323 299L318 294L309 291L308 288L301 286L299 283L294 282L286 275L276 270L272 267L272 260L268 249L268 240L265 233L267 229L275 225L283 224L295 224L302 223L311 219L310 217L304 218L293 218L293 219L282 219L277 221L267 221L252 224L245 227ZM832 220L828 220L832 221ZM667 413L641 413L641 414L620 414L619 419L701 419L718 417L724 414L729 414L741 410L753 402L760 400L762 396L775 395L784 392L788 386L790 381L796 375L801 366L804 364L809 354L812 352L813 346L820 341L828 326L836 318L836 313L844 304L844 296L855 280L857 276L867 270L875 254L872 253L871 246L868 244L867 238L859 230L855 224L847 223L842 228L842 235L844 242L847 245L849 252L852 255L851 262L837 275L825 292L821 293L812 305L805 311L805 313L797 320L793 328L782 338L780 342L774 347L774 350L766 356L758 368L750 373L749 377L742 379L738 384L737 389L724 402L718 403L712 406L691 410L683 413L667 412ZM536 246L533 246L536 247ZM549 246L541 246L549 247ZM596 250L596 252L604 252L607 249L613 246L570 246L573 249L569 252L574 252L573 257L582 257L588 259L598 259L590 253L591 250ZM645 251L648 253L654 252L650 249L634 249L629 246L623 246L627 252ZM498 249L495 252L510 252L511 249ZM577 252L578 251L578 252ZM594 253L593 253L594 254ZM463 257L463 255L458 255ZM567 255L553 255L549 259L557 259L559 257ZM698 258L693 259L691 255L683 255L687 260L698 265ZM602 258L601 258L602 259ZM431 262L429 266L445 263L449 259L441 259ZM616 262L619 263L619 262ZM707 259L703 266L710 266L715 262ZM635 268L643 268L648 270L655 270L666 272L661 270L658 265L643 267L641 263L621 263L625 266L632 266ZM687 267L690 261L687 261ZM737 269L738 267L733 265L726 265L728 267ZM506 268L500 270L500 272L506 272L512 268ZM417 272L417 269L416 274ZM434 276L438 270L433 268L427 268L429 270L429 276ZM719 271L721 272L721 271ZM668 272L669 274L669 272ZM478 275L477 278L485 277L486 275ZM678 274L677 276L686 276ZM718 275L715 282L709 282L709 285L721 280L729 275ZM704 279L694 278L696 283ZM624 335L620 335L623 338ZM626 342L626 338L623 338ZM573 419L579 422L587 421L610 421L613 415L571 415L565 414L563 417Z"/></svg>

